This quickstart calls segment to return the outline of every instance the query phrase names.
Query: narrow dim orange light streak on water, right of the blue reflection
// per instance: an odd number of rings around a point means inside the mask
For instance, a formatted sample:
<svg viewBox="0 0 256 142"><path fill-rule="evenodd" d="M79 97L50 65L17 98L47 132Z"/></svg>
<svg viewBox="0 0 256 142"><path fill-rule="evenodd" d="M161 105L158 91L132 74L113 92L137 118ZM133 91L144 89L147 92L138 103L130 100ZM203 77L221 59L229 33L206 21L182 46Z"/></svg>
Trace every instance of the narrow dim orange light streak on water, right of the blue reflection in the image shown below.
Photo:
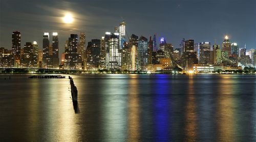
<svg viewBox="0 0 256 142"><path fill-rule="evenodd" d="M185 141L196 141L197 138L197 116L196 116L196 102L194 94L193 76L189 76L188 80L188 100L186 106L186 124L185 124Z"/></svg>

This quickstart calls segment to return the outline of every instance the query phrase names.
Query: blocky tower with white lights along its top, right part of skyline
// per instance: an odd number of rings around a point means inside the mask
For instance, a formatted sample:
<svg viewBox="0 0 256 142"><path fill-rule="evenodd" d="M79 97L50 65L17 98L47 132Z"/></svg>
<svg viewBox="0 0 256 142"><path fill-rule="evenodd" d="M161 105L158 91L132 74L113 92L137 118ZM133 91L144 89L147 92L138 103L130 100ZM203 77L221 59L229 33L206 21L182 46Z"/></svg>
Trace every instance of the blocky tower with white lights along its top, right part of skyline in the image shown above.
<svg viewBox="0 0 256 142"><path fill-rule="evenodd" d="M200 64L208 64L209 63L209 51L210 51L210 43L209 42L201 42L199 43L199 63Z"/></svg>

